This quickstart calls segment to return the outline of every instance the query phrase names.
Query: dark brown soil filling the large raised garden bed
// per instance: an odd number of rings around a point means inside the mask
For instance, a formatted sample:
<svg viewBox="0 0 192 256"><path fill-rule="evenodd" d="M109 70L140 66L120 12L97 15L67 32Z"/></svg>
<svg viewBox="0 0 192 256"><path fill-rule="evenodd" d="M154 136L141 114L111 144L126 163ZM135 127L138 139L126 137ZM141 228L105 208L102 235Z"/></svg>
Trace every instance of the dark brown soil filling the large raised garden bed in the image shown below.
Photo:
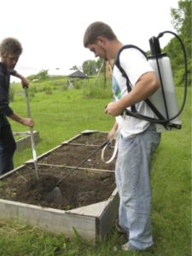
<svg viewBox="0 0 192 256"><path fill-rule="evenodd" d="M101 150L89 157L106 141L105 133L86 133L44 154L38 159L39 180L34 165L26 164L0 182L0 198L56 209L70 210L107 200L115 189L114 163L101 160ZM106 159L113 145L106 149ZM63 179L61 181L61 179ZM53 200L53 189L59 184L61 200Z"/></svg>

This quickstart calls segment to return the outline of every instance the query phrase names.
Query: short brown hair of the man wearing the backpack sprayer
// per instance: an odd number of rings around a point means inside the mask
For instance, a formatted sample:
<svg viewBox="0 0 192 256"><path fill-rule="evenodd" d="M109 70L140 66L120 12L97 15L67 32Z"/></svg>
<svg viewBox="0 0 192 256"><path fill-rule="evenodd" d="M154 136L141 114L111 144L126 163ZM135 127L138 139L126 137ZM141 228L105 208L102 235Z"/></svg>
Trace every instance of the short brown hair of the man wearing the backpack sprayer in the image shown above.
<svg viewBox="0 0 192 256"><path fill-rule="evenodd" d="M108 24L105 24L102 21L96 21L91 23L84 32L84 47L87 47L88 44L95 44L98 37L104 37L108 40L117 39L112 28L108 26Z"/></svg>

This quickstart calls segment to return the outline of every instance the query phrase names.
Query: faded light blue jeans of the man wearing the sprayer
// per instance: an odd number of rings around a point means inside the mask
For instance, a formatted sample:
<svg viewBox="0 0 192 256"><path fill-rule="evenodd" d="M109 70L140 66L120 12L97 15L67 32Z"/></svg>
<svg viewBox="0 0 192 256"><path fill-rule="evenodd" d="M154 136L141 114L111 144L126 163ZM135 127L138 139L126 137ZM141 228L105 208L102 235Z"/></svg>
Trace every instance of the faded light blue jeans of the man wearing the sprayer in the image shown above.
<svg viewBox="0 0 192 256"><path fill-rule="evenodd" d="M120 137L115 179L119 191L119 225L127 230L130 247L143 250L153 245L150 223L150 165L160 133L150 125L134 137Z"/></svg>

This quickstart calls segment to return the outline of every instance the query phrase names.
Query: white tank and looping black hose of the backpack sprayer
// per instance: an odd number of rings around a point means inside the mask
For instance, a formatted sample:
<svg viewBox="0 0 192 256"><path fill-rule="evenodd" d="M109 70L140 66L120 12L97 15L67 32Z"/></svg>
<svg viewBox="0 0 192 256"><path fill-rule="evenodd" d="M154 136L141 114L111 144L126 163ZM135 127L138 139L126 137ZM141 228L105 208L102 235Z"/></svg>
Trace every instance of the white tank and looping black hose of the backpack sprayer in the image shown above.
<svg viewBox="0 0 192 256"><path fill-rule="evenodd" d="M182 46L183 58L184 58L184 95L183 103L180 110L177 107L177 96L175 93L175 86L172 76L172 66L170 58L166 53L161 53L160 42L161 38L165 33L173 34ZM160 79L160 89L157 90L153 96L150 97L151 102L154 106L160 109L164 119L161 121L162 125L166 130L172 130L172 128L181 129L182 123L179 117L182 113L186 98L187 98L187 86L188 86L188 68L187 68L187 55L181 38L176 33L166 31L160 32L157 38L153 37L149 39L151 55L148 56L148 61L151 67L154 68L154 72ZM160 122L160 123L161 123ZM163 131L162 125L156 125L157 131Z"/></svg>

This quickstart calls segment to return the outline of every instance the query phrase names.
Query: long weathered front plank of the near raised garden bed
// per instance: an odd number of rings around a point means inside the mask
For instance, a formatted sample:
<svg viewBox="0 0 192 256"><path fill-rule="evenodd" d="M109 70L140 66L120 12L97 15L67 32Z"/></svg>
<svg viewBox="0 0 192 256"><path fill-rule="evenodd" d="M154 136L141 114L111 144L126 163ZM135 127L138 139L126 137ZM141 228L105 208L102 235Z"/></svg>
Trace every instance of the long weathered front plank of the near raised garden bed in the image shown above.
<svg viewBox="0 0 192 256"><path fill-rule="evenodd" d="M18 218L22 222L38 226L49 232L63 232L68 237L73 237L74 230L76 230L84 239L96 241L96 219L89 216L0 200L0 218Z"/></svg>

